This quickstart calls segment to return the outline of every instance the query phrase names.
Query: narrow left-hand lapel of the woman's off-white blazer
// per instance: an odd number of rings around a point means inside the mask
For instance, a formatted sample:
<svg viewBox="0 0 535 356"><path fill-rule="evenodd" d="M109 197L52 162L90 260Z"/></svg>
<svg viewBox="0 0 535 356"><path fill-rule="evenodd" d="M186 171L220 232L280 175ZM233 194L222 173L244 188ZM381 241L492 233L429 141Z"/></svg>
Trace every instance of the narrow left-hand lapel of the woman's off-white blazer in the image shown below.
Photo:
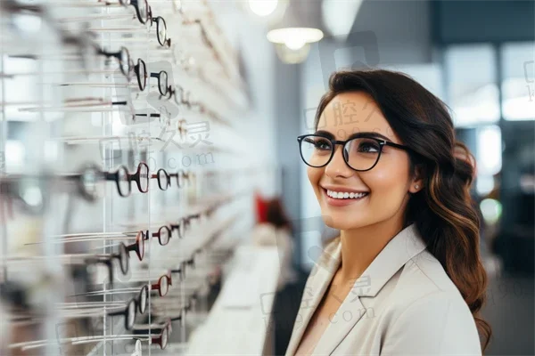
<svg viewBox="0 0 535 356"><path fill-rule="evenodd" d="M293 356L297 351L300 340L309 325L309 321L316 312L325 290L329 287L333 275L338 270L341 261L340 239L332 241L325 247L324 254L310 271L309 279L303 291L300 308L293 324L292 336L286 349L286 356Z"/></svg>

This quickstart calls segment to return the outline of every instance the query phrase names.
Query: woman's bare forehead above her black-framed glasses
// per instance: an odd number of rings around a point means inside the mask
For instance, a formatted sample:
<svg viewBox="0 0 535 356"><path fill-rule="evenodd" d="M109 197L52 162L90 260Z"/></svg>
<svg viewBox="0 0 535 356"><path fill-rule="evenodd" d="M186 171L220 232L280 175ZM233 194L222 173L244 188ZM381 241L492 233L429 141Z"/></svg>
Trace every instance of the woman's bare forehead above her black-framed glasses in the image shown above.
<svg viewBox="0 0 535 356"><path fill-rule="evenodd" d="M344 140L351 134L378 133L398 142L391 125L372 97L364 92L339 93L325 106L317 130Z"/></svg>

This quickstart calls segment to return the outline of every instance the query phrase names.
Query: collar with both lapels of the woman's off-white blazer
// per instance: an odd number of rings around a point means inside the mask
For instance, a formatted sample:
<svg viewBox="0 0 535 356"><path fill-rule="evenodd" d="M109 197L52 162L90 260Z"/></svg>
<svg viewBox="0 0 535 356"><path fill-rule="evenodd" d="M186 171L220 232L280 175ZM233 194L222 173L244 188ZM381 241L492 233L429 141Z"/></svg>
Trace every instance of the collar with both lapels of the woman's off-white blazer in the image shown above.
<svg viewBox="0 0 535 356"><path fill-rule="evenodd" d="M360 302L361 296L374 297L384 287L386 282L399 271L411 258L425 249L424 240L416 231L416 225L411 224L394 236L383 250L374 258L362 276L353 285L350 295L343 301L337 313L366 310ZM342 258L342 244L340 239L333 241L325 248L319 261L310 271L310 278L305 286L300 304L300 325L294 326L286 356L292 356L300 343L312 315L321 302L325 290L329 287L333 274L338 270ZM358 298L356 298L358 296ZM358 314L358 313L357 313ZM348 313L349 315L349 313ZM362 317L362 313L348 322L331 323L325 329L323 336L317 343L314 353L330 354L340 344L350 329Z"/></svg>

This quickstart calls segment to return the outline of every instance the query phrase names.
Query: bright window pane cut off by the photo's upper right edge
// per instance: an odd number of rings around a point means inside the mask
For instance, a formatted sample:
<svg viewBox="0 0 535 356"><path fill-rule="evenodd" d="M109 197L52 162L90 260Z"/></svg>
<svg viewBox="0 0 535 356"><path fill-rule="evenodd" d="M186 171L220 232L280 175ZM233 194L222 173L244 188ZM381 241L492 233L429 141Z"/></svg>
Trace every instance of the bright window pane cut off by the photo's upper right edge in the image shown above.
<svg viewBox="0 0 535 356"><path fill-rule="evenodd" d="M505 44L501 55L504 119L535 119L535 42Z"/></svg>

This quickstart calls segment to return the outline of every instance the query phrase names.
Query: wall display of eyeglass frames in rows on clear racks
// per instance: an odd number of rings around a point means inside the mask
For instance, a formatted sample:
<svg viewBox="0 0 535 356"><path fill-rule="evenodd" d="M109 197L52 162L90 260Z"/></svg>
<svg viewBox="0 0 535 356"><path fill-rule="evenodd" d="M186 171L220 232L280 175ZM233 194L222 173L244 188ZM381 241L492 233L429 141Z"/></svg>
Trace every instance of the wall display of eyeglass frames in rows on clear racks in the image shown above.
<svg viewBox="0 0 535 356"><path fill-rule="evenodd" d="M215 13L4 0L0 51L0 354L187 354L265 174Z"/></svg>

